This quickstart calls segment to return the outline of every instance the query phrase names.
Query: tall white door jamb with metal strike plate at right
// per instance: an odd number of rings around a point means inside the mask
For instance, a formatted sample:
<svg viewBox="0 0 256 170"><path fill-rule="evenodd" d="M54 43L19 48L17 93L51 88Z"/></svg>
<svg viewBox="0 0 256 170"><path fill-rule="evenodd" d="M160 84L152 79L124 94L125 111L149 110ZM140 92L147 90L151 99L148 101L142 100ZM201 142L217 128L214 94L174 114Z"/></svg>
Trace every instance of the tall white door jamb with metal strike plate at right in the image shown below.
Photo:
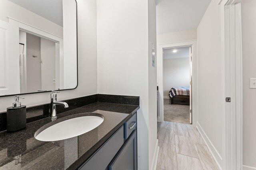
<svg viewBox="0 0 256 170"><path fill-rule="evenodd" d="M226 168L242 167L242 31L241 4L225 5L225 96L226 96ZM249 81L249 80L248 80ZM249 87L248 87L249 88Z"/></svg>

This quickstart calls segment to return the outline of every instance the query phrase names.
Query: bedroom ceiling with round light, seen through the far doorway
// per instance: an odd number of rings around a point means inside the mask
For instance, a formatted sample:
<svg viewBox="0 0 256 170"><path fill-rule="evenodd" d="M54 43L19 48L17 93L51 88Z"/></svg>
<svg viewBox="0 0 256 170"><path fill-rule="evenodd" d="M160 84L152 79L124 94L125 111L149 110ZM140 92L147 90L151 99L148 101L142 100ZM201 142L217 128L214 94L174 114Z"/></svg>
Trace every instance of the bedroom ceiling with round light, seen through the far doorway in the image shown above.
<svg viewBox="0 0 256 170"><path fill-rule="evenodd" d="M176 53L173 51L177 50ZM178 47L163 50L164 59L180 59L189 57L189 47Z"/></svg>

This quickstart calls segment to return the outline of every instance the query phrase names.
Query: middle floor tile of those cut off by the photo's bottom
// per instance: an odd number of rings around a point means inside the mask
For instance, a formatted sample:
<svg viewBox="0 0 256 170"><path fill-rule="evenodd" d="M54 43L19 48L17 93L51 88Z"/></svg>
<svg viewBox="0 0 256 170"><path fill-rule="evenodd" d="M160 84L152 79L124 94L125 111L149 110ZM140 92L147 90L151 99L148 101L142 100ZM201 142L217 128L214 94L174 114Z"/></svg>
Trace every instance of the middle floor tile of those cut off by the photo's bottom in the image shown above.
<svg viewBox="0 0 256 170"><path fill-rule="evenodd" d="M178 170L202 170L198 158L177 154Z"/></svg>

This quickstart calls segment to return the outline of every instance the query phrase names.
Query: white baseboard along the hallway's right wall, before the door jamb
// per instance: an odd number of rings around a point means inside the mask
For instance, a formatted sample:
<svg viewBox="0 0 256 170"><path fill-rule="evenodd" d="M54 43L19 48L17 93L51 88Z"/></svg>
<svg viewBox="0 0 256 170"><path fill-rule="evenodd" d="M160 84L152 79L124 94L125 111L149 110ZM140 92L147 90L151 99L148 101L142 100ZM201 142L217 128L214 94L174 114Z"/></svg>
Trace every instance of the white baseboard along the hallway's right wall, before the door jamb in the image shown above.
<svg viewBox="0 0 256 170"><path fill-rule="evenodd" d="M214 145L212 144L212 142L210 141L210 139L208 138L208 136L206 135L206 133L204 132L204 130L202 129L202 127L200 126L200 124L198 122L197 122L196 128L198 129L200 135L204 139L204 142L206 143L206 146L210 150L212 157L214 158L216 164L222 170L222 168L220 166L220 163L222 162L222 157L220 156L219 152L216 150L216 148L214 147Z"/></svg>

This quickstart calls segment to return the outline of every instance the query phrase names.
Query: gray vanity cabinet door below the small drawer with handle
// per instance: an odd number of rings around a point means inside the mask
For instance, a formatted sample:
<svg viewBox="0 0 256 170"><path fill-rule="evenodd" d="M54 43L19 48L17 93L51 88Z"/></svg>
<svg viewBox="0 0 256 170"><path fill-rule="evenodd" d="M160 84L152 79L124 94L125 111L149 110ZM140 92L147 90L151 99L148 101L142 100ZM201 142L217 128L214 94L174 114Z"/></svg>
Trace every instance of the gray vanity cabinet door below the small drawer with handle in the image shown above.
<svg viewBox="0 0 256 170"><path fill-rule="evenodd" d="M108 170L137 170L137 131L126 140L110 162Z"/></svg>

